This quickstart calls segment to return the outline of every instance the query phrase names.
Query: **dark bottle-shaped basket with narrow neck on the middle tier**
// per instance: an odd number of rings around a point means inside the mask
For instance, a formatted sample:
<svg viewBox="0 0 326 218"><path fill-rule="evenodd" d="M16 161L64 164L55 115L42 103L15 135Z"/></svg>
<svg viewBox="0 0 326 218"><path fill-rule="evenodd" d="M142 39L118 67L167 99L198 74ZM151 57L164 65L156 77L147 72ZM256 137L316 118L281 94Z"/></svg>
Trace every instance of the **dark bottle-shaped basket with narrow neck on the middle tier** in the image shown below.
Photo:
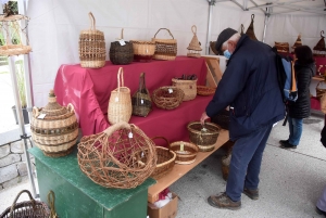
<svg viewBox="0 0 326 218"><path fill-rule="evenodd" d="M152 100L145 84L145 73L140 74L138 90L131 97L133 115L146 117L152 110Z"/></svg>

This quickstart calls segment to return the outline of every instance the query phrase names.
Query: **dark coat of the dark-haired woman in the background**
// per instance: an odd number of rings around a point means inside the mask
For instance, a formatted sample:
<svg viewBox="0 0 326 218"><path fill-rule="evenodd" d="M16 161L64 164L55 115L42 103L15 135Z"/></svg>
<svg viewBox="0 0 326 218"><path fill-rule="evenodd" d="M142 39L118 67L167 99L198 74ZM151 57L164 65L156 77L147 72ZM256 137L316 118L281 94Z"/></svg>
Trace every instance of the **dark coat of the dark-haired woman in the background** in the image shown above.
<svg viewBox="0 0 326 218"><path fill-rule="evenodd" d="M289 116L292 118L306 118L310 116L310 82L311 78L315 75L315 64L294 65L298 99L296 102L289 102Z"/></svg>

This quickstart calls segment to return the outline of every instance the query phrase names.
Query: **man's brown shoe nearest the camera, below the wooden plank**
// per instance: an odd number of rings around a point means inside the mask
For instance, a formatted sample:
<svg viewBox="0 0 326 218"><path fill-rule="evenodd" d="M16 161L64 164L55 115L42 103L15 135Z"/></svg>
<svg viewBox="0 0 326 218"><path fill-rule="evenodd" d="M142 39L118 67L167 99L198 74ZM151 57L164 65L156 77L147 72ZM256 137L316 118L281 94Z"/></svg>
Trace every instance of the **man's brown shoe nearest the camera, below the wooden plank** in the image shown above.
<svg viewBox="0 0 326 218"><path fill-rule="evenodd" d="M229 198L225 192L218 195L211 195L208 198L208 202L211 206L217 208L225 208L225 209L240 209L241 208L241 201L234 202Z"/></svg>

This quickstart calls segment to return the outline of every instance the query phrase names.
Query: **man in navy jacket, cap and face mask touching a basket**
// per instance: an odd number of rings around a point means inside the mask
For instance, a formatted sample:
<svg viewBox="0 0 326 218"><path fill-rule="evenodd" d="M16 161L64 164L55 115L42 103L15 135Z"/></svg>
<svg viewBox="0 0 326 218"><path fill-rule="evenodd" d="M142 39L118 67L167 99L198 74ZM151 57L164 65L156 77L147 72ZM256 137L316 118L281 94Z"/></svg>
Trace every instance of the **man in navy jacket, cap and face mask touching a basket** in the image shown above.
<svg viewBox="0 0 326 218"><path fill-rule="evenodd" d="M273 124L285 117L277 82L276 56L272 48L253 41L235 29L224 29L216 50L228 60L216 92L201 116L201 123L229 106L229 138L235 141L226 192L211 195L210 205L241 207L241 193L259 198L259 174Z"/></svg>

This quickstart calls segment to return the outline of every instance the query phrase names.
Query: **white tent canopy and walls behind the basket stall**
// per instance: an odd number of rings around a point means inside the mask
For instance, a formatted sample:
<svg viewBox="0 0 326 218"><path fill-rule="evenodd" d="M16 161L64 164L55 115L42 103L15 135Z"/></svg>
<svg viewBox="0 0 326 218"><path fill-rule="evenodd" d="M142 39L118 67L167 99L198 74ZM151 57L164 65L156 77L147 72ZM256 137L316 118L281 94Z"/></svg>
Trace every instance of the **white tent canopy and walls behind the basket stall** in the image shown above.
<svg viewBox="0 0 326 218"><path fill-rule="evenodd" d="M269 2L269 3L268 3ZM171 30L178 43L178 55L186 55L192 38L191 26L202 53L209 41L216 40L226 27L244 31L254 14L254 31L265 42L294 43L299 34L303 44L313 48L326 31L324 0L29 0L27 15L29 44L33 48L30 69L36 106L43 106L53 88L57 70L62 64L78 64L78 39L90 27L88 12L96 17L97 29L104 33L106 60L110 43L124 28L125 40L151 40L159 28ZM214 4L214 5L213 5ZM267 10L268 9L268 10ZM211 20L210 20L211 17ZM211 21L211 22L210 22ZM160 31L158 38L170 38Z"/></svg>

